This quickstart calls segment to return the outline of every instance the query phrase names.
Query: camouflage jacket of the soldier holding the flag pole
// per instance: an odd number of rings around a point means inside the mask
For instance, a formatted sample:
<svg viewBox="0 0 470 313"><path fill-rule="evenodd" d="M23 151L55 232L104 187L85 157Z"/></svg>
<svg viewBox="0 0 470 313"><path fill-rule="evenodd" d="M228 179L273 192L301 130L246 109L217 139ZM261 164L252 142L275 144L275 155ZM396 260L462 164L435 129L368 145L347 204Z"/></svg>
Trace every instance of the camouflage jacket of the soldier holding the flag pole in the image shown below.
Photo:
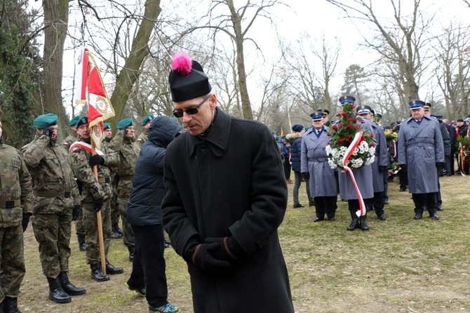
<svg viewBox="0 0 470 313"><path fill-rule="evenodd" d="M89 139L84 139L80 136L78 141L90 143ZM102 145L101 152L104 153L102 157L105 159L105 164L98 165L98 180L96 180L93 168L89 164L90 152L83 147L75 146L69 154L74 175L83 184L81 192L82 202L93 202L93 200L102 197L105 199L112 197L112 180L108 166L119 164L119 154L105 145Z"/></svg>

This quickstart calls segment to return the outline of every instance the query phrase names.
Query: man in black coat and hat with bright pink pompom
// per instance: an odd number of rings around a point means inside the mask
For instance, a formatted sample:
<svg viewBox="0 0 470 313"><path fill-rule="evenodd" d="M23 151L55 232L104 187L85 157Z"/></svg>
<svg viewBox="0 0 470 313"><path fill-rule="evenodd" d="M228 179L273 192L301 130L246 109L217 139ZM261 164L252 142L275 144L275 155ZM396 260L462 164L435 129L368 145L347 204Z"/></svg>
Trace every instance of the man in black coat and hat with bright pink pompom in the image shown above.
<svg viewBox="0 0 470 313"><path fill-rule="evenodd" d="M187 132L166 149L163 226L187 261L194 312L293 313L277 143L264 124L217 107L198 62L180 54L172 69L173 114Z"/></svg>

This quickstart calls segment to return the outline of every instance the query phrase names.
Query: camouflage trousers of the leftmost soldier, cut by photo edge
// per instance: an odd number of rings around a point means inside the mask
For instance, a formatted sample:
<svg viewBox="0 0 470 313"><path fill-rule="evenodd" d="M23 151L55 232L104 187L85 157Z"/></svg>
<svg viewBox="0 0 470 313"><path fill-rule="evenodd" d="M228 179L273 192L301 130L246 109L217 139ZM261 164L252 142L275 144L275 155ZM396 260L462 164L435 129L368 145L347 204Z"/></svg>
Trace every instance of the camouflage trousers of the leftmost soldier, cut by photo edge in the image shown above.
<svg viewBox="0 0 470 313"><path fill-rule="evenodd" d="M25 277L23 228L21 225L0 228L0 302L5 296L18 298Z"/></svg>

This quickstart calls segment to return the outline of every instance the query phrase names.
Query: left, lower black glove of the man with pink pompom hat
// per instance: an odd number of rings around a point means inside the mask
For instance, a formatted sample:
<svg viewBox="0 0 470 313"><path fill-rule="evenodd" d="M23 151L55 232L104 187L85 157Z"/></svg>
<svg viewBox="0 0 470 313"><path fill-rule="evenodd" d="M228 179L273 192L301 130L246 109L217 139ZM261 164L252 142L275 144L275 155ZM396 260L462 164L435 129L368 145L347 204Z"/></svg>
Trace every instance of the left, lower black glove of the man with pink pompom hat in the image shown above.
<svg viewBox="0 0 470 313"><path fill-rule="evenodd" d="M199 244L192 256L195 265L206 269L206 271L221 274L231 271L232 266L229 261L217 260L211 253L215 253L220 248L220 244L213 242L212 244Z"/></svg>

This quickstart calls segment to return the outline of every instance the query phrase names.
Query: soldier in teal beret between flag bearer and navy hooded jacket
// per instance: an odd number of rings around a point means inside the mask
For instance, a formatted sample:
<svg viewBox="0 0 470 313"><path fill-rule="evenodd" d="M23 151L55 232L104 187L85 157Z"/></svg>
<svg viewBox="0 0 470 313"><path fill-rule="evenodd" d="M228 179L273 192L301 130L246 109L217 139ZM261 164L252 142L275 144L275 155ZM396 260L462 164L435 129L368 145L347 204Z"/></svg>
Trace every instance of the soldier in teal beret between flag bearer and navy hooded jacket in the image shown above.
<svg viewBox="0 0 470 313"><path fill-rule="evenodd" d="M122 121L119 121L117 128L118 133L116 133L111 141L111 147L114 151L119 153L121 162L118 166L114 166L112 170L116 172L119 177L119 182L116 188L116 192L118 194L117 203L123 225L124 245L128 248L129 260L132 261L134 258L135 238L132 227L130 227L126 220L126 211L130 188L132 187L135 161L137 161L140 148L137 143L135 143L132 119L123 119Z"/></svg>

